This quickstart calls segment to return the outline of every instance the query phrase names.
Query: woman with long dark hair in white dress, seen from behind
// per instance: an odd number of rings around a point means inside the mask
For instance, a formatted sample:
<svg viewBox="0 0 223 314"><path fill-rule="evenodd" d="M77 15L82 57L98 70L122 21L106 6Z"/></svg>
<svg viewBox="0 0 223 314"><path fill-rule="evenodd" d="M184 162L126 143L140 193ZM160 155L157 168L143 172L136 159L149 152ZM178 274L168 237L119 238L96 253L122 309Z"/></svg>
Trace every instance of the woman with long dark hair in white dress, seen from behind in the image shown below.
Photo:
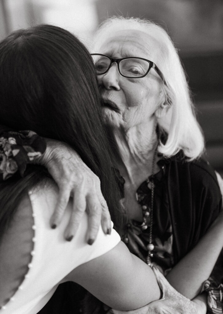
<svg viewBox="0 0 223 314"><path fill-rule="evenodd" d="M0 122L69 144L100 178L109 207L117 211L118 192L95 72L81 42L50 25L18 30L0 43L0 82ZM35 133L28 137L35 138ZM1 138L2 168L12 166L7 164L10 145L14 145L13 154L19 154L20 140L15 134L6 141ZM158 299L152 269L131 256L116 231L109 230L109 236L99 230L89 246L84 215L74 239L65 241L70 203L62 224L51 228L57 193L47 171L35 165L26 169L23 178L14 175L0 184L0 312L35 314L64 281L81 284L119 309L134 309Z"/></svg>

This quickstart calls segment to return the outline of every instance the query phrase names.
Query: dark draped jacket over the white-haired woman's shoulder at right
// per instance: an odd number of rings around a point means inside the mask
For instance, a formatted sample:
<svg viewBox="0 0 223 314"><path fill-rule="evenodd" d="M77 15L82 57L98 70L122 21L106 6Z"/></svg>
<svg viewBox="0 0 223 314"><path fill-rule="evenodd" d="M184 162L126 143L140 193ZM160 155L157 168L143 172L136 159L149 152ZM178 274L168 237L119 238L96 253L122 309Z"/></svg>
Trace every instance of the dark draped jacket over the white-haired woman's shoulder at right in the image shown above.
<svg viewBox="0 0 223 314"><path fill-rule="evenodd" d="M172 158L167 165L165 184L177 263L197 244L216 219L221 209L222 196L215 172L202 159L184 162Z"/></svg>

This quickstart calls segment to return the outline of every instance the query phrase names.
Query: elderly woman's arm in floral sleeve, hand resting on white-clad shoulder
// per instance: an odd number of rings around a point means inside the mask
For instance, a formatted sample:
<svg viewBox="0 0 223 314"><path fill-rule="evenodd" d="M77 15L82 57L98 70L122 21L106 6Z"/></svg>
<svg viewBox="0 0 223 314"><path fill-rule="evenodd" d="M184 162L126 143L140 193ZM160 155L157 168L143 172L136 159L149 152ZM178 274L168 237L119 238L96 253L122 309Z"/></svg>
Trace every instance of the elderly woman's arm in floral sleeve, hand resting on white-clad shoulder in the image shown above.
<svg viewBox="0 0 223 314"><path fill-rule="evenodd" d="M47 168L59 187L58 202L51 218L52 228L59 225L70 197L76 196L73 198L74 210L64 232L68 241L75 236L86 208L89 220L86 235L88 243L94 242L100 224L105 234L110 233L111 219L100 180L66 144L43 139L32 131L16 132L0 125L0 152L3 154L0 158L0 181L6 180L16 171L23 176L28 163L38 163Z"/></svg>

